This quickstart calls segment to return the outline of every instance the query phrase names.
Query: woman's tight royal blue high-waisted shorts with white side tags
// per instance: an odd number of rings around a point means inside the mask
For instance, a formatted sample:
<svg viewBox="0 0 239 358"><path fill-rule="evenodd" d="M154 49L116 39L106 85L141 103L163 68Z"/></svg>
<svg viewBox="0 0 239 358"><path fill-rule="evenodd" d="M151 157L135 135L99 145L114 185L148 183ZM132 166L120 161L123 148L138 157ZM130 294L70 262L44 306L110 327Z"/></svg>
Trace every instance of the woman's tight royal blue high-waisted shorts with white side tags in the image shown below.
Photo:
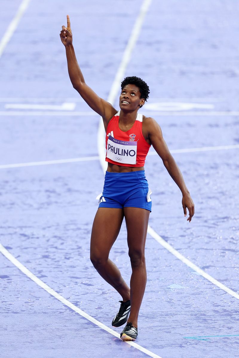
<svg viewBox="0 0 239 358"><path fill-rule="evenodd" d="M144 170L130 173L105 173L103 193L100 194L99 208L133 207L142 208L151 212L152 194L148 188Z"/></svg>

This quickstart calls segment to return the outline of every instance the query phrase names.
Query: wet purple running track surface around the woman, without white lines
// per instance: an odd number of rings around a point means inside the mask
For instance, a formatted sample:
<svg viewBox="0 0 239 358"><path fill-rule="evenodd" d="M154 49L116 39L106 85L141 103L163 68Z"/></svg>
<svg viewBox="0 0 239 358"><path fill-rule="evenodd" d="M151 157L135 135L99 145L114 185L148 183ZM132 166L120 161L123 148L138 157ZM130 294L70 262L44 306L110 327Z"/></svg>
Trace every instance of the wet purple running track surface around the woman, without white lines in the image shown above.
<svg viewBox="0 0 239 358"><path fill-rule="evenodd" d="M99 116L71 86L59 32L69 14L85 80L106 99L141 1L80 3L59 0L50 6L32 0L0 58L0 165L98 155ZM19 4L4 2L4 29ZM125 76L148 83L150 98L142 113L158 121L169 149L239 143L238 15L233 0L152 0ZM39 114L8 106L64 102L76 104L72 112L89 113ZM162 111L163 102L174 104ZM191 107L175 112L175 103ZM145 165L153 191L150 226L235 292L238 153L235 147L173 155L195 203L190 224L180 190L161 159L149 155ZM104 182L99 161L0 169L0 175L3 246L47 285L111 327L121 297L89 259L95 197ZM136 342L162 358L238 358L238 300L149 235L145 256L148 281ZM124 225L110 257L129 282ZM2 357L147 357L54 299L3 255L0 269Z"/></svg>

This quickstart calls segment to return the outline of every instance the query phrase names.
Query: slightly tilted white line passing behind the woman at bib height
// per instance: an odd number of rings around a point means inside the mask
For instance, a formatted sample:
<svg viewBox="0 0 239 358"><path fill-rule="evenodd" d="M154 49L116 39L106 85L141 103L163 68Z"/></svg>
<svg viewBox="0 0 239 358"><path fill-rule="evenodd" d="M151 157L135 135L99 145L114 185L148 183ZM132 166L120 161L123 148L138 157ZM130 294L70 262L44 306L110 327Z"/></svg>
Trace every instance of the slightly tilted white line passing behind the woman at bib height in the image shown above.
<svg viewBox="0 0 239 358"><path fill-rule="evenodd" d="M239 149L239 144L234 145L220 145L220 146L212 146L212 147L199 147L199 148L185 148L185 149L172 149L170 150L171 154L177 153L193 153L193 152L204 152L210 150L228 150L228 149ZM148 155L158 155L156 151L149 152ZM64 163L77 163L80 161L91 161L91 160L99 160L99 155L88 156L88 157L80 157L80 158L69 158L69 159L56 159L56 160L44 160L44 161L32 161L28 163L15 163L15 164L2 164L0 165L0 169L8 169L8 168L21 168L25 166L36 166L36 165L49 165L49 164L64 164Z"/></svg>

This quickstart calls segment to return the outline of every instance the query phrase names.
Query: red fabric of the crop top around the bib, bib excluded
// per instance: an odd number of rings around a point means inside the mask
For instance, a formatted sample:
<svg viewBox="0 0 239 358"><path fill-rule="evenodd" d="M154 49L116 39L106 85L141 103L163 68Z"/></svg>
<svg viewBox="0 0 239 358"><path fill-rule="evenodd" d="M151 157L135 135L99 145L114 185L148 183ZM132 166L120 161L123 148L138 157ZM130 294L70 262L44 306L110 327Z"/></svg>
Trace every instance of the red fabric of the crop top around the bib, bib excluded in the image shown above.
<svg viewBox="0 0 239 358"><path fill-rule="evenodd" d="M148 154L150 145L144 139L142 133L142 124L143 122L135 120L133 127L130 130L123 132L119 128L119 115L115 115L114 117L112 117L106 129L106 138L105 138L106 149L107 149L108 134L112 135L111 134L112 131L113 131L113 137L115 139L125 140L125 141L129 141L130 139L132 139L129 137L130 134L135 134L134 141L137 141L136 164L124 164L124 163L119 164L118 162L111 160L107 157L105 158L105 160L108 161L109 163L117 164L121 166L144 166L145 158L146 155Z"/></svg>

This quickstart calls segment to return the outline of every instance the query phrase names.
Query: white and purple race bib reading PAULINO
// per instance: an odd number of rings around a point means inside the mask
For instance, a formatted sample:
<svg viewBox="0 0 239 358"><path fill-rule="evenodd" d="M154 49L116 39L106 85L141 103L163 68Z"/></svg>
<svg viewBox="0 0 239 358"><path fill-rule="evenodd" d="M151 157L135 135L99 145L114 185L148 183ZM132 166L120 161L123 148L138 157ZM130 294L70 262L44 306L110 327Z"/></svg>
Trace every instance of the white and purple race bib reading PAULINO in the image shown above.
<svg viewBox="0 0 239 358"><path fill-rule="evenodd" d="M137 142L126 142L109 135L106 157L119 164L136 164Z"/></svg>

